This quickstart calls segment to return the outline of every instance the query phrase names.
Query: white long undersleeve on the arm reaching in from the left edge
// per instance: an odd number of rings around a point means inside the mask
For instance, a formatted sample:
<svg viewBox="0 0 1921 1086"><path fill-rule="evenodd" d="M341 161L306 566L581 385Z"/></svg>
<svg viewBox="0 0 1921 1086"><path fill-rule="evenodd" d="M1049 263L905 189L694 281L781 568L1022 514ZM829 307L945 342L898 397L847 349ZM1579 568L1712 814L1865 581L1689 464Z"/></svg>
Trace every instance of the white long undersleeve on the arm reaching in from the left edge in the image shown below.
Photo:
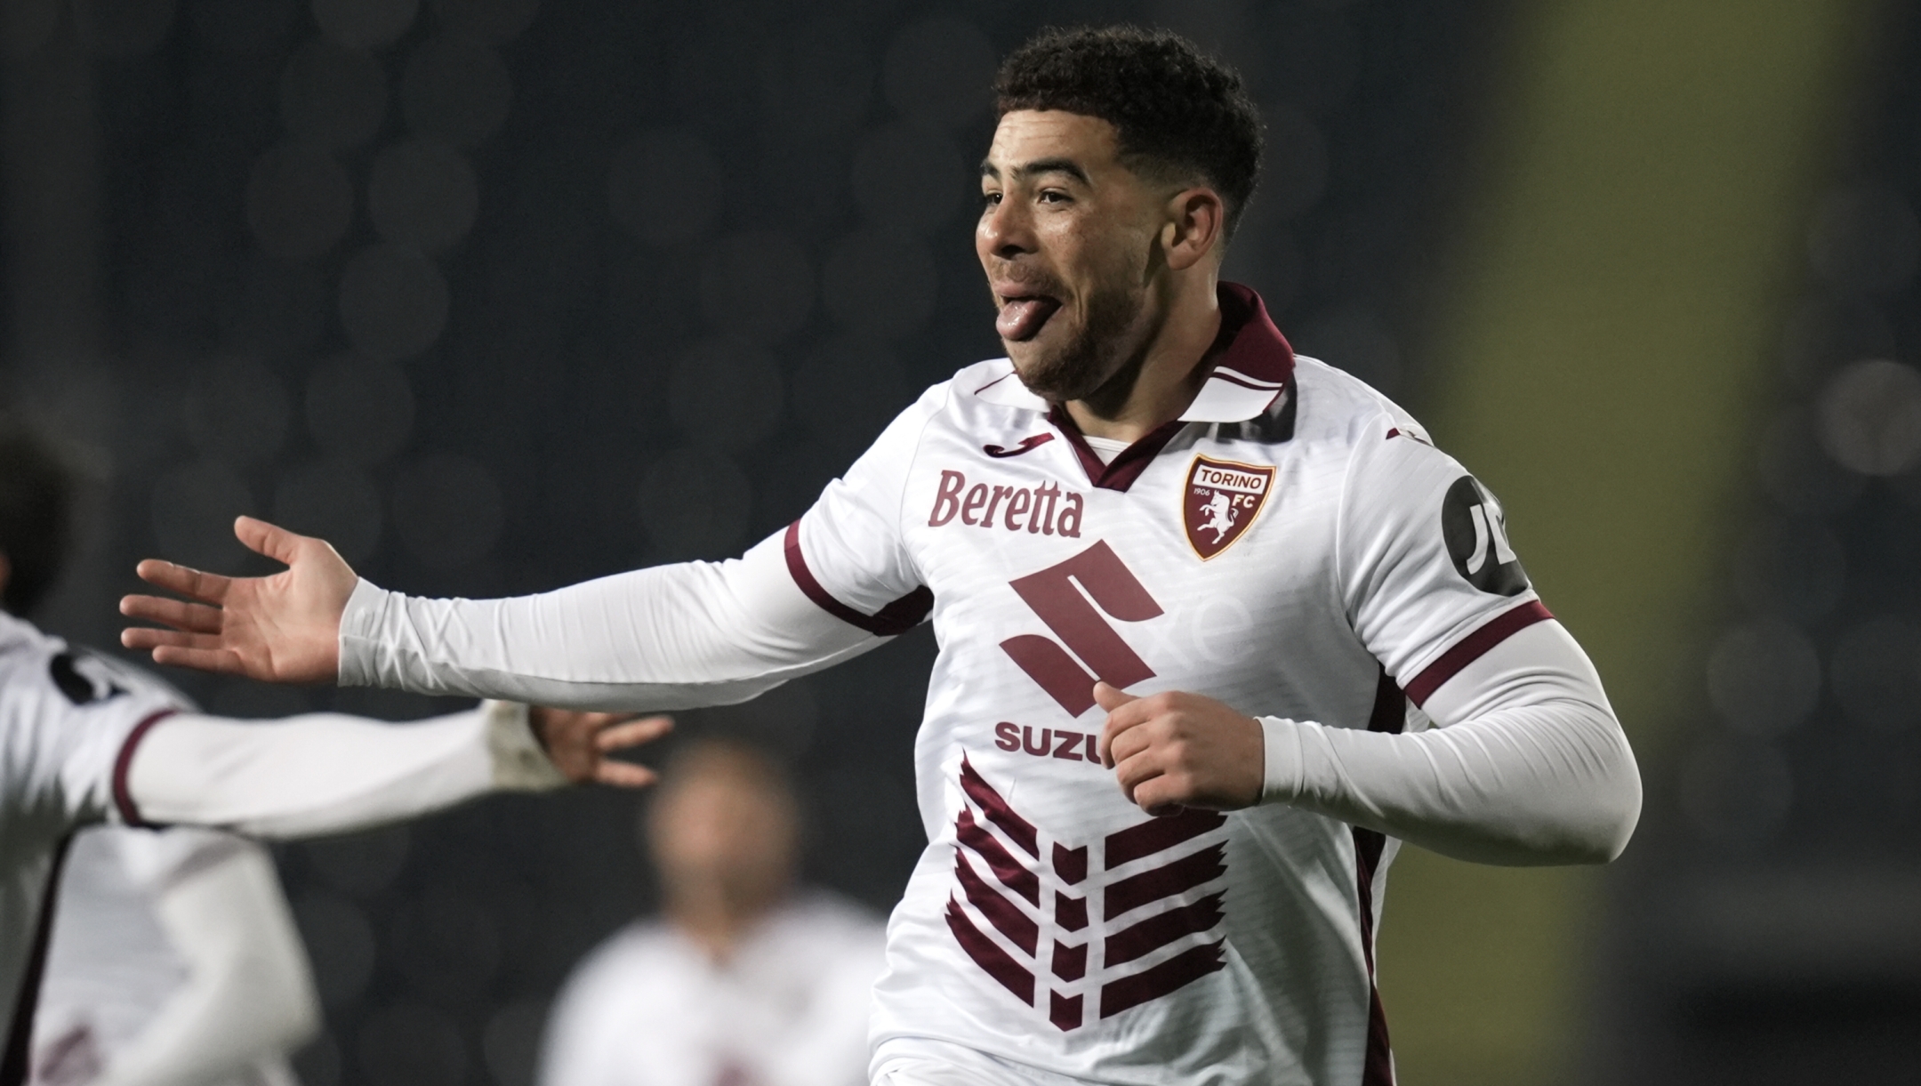
<svg viewBox="0 0 1921 1086"><path fill-rule="evenodd" d="M403 725L338 713L252 723L179 713L129 744L115 790L121 821L265 838L348 832L484 792L567 784L526 707L505 702Z"/></svg>

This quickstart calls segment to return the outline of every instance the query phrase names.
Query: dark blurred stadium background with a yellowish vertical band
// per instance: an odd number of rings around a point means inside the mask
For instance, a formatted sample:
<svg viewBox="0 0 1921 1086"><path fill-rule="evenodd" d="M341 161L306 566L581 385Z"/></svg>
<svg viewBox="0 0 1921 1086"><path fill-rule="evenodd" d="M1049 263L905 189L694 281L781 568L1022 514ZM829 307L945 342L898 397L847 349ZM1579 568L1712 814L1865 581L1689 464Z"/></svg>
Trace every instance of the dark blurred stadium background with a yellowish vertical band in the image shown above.
<svg viewBox="0 0 1921 1086"><path fill-rule="evenodd" d="M1608 875L1406 855L1404 1080L1921 1074L1921 38L1767 0L13 0L6 406L88 473L44 625L234 513L492 596L722 557L995 354L970 248L997 56L1145 21L1241 65L1229 258L1304 354L1506 498L1637 738ZM922 844L926 630L686 730L761 738L811 871ZM423 698L173 675L209 709ZM309 1086L528 1082L571 963L649 907L640 803L492 800L279 852ZM1412 852L1412 850L1410 850Z"/></svg>

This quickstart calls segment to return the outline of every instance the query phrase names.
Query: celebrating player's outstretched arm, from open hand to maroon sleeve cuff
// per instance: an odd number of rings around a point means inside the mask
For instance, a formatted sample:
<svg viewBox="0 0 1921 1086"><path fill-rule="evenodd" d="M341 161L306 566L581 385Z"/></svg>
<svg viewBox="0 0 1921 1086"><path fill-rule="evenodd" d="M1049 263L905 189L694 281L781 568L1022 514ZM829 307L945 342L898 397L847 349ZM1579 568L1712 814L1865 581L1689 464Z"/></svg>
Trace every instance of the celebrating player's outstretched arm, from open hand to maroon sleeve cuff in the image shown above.
<svg viewBox="0 0 1921 1086"><path fill-rule="evenodd" d="M129 648L159 663L273 682L338 680L578 709L745 702L882 642L830 615L774 536L743 557L640 569L513 600L423 600L359 580L330 546L242 517L234 532L284 561L219 577L142 561L188 598L127 596Z"/></svg>

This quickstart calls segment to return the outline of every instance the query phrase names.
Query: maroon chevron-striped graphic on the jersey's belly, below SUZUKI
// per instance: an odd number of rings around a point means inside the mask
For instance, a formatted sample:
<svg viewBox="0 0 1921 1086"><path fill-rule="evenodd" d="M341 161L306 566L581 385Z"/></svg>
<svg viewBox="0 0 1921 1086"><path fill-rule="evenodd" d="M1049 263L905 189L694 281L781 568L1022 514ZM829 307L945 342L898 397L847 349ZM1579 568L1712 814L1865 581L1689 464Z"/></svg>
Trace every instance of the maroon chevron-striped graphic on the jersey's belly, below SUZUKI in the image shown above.
<svg viewBox="0 0 1921 1086"><path fill-rule="evenodd" d="M1228 875L1216 834L1226 815L1147 819L1106 834L1089 855L1085 844L1043 844L964 755L959 782L959 894L947 896L947 928L987 976L1057 1028L1112 1019L1226 967L1226 940L1214 936L1224 890L1195 898Z"/></svg>

